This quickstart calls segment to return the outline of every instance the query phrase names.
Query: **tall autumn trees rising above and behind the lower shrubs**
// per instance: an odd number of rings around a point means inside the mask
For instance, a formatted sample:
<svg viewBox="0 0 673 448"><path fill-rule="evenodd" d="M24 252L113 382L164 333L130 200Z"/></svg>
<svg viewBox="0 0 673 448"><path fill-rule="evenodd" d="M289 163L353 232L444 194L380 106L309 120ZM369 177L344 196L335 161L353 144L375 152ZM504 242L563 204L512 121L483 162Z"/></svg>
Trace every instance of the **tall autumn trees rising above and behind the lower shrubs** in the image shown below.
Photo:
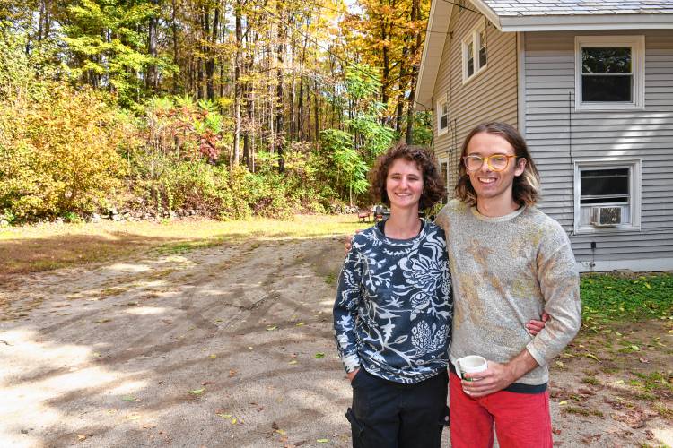
<svg viewBox="0 0 673 448"><path fill-rule="evenodd" d="M382 122L411 139L413 86L428 0L33 0L0 14L26 34L51 75L135 108L163 94L216 101L232 163L281 156L354 116L348 66L378 73ZM283 159L280 159L283 169Z"/></svg>

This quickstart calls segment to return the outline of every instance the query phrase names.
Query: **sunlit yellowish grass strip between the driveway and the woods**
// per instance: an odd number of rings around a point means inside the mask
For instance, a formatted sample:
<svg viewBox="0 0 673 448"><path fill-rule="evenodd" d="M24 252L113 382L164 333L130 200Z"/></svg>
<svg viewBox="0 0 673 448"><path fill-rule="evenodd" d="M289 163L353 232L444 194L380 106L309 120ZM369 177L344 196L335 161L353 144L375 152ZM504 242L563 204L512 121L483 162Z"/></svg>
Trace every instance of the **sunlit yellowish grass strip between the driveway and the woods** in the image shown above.
<svg viewBox="0 0 673 448"><path fill-rule="evenodd" d="M297 215L293 220L103 221L3 228L0 229L0 272L52 271L124 259L148 251L160 255L184 254L244 240L347 235L369 226L371 223L358 222L354 215Z"/></svg>

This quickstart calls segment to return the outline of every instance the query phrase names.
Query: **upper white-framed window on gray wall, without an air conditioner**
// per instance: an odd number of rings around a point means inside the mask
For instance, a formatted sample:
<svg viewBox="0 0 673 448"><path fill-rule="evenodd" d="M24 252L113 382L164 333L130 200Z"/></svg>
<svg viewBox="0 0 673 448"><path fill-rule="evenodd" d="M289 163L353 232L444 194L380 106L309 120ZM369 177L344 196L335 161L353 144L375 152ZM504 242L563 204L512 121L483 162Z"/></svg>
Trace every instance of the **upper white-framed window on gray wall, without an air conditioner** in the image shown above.
<svg viewBox="0 0 673 448"><path fill-rule="evenodd" d="M575 36L575 108L644 108L645 37Z"/></svg>

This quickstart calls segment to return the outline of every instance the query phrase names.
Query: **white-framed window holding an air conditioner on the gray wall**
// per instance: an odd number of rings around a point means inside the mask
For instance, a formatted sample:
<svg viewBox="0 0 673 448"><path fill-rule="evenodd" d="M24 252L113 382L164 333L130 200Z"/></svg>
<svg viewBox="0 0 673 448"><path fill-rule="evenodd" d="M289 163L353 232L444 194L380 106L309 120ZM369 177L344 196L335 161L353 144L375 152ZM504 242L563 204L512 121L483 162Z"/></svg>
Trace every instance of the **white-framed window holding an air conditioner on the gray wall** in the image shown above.
<svg viewBox="0 0 673 448"><path fill-rule="evenodd" d="M576 161L574 184L575 232L640 229L640 159Z"/></svg>

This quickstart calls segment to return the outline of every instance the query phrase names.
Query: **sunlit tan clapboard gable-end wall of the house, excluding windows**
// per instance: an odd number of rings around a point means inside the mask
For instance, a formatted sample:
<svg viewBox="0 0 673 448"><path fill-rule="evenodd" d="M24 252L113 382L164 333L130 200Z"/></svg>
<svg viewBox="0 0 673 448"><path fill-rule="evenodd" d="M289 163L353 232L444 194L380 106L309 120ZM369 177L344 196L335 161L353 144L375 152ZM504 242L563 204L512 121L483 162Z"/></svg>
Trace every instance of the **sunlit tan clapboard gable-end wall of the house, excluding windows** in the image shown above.
<svg viewBox="0 0 673 448"><path fill-rule="evenodd" d="M468 7L476 9L474 5ZM462 40L483 20L481 15L454 6L449 33L433 92L433 147L438 159L449 162L447 190L456 185L460 148L476 125L498 120L517 125L517 36L502 33L486 22L484 71L463 84ZM437 101L450 99L449 132L438 135Z"/></svg>

